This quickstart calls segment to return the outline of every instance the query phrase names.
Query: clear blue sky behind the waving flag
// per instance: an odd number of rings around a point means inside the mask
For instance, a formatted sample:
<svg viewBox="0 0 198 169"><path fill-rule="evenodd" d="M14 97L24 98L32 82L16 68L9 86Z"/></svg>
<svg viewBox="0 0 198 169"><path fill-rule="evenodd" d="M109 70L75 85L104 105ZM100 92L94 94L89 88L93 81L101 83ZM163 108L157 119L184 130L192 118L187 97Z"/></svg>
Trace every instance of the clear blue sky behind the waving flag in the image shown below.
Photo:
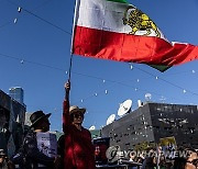
<svg viewBox="0 0 198 169"><path fill-rule="evenodd" d="M197 0L129 2L146 13L169 42L198 45ZM0 0L0 89L8 93L11 87L22 87L26 111L52 113L52 131L62 131L74 8L75 0ZM160 72L147 65L73 55L70 104L87 109L87 128L106 125L128 99L132 110L138 109L138 100L145 102L146 93L152 102L198 105L197 65L194 60Z"/></svg>

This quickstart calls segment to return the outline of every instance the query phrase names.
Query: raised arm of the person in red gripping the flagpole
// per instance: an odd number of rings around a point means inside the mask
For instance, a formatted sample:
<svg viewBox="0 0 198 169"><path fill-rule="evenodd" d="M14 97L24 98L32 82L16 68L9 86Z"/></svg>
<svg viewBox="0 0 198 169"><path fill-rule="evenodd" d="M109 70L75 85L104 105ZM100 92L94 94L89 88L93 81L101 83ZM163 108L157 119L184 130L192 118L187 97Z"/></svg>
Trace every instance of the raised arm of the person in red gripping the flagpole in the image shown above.
<svg viewBox="0 0 198 169"><path fill-rule="evenodd" d="M63 131L66 132L66 128L72 124L69 116L70 81L68 80L64 87L65 87L65 100L63 103Z"/></svg>

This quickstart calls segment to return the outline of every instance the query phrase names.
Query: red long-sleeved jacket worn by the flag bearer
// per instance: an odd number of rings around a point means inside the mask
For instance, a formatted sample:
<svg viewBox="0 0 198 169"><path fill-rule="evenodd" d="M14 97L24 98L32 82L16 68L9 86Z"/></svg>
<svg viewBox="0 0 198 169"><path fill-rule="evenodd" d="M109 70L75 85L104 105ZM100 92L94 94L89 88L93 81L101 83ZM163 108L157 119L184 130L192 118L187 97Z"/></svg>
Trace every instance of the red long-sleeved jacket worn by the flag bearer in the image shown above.
<svg viewBox="0 0 198 169"><path fill-rule="evenodd" d="M95 169L95 149L90 132L77 129L69 116L69 102L64 101L63 129L65 133L65 169Z"/></svg>

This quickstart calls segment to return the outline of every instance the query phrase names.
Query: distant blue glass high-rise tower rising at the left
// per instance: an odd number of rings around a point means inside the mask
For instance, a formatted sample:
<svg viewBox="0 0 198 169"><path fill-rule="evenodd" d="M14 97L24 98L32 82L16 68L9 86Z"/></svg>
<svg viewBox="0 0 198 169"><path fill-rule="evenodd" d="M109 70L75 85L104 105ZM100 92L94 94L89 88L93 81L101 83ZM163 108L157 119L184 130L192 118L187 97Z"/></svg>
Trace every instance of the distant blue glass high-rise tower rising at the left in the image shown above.
<svg viewBox="0 0 198 169"><path fill-rule="evenodd" d="M12 87L9 89L9 95L23 104L23 89L21 87Z"/></svg>

